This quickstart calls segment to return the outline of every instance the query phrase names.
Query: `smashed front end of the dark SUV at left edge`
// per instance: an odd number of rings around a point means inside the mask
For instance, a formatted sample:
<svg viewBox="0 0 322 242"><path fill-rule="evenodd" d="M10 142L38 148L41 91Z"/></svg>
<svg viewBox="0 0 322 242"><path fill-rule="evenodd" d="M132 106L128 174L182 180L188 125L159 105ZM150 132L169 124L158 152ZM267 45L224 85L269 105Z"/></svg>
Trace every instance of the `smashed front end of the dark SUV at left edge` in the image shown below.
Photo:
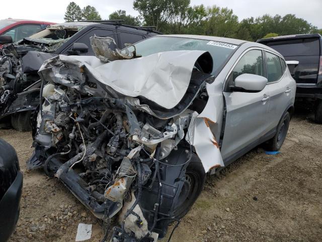
<svg viewBox="0 0 322 242"><path fill-rule="evenodd" d="M0 118L35 109L39 104L37 74L45 59L53 54L33 51L30 46L10 44L0 56Z"/></svg>

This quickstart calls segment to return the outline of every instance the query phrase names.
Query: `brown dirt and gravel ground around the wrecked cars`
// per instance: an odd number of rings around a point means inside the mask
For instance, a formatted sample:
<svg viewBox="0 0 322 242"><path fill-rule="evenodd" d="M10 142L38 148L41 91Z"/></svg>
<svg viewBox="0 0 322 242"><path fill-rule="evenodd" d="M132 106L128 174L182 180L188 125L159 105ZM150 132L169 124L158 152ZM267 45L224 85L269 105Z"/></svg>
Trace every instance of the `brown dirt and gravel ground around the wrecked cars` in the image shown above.
<svg viewBox="0 0 322 242"><path fill-rule="evenodd" d="M171 241L322 241L322 125L308 116L291 120L280 154L256 148L208 177ZM16 148L24 173L10 241L75 241L80 222L93 224L88 241L100 241L97 220L56 179L26 170L31 134L0 130L0 137Z"/></svg>

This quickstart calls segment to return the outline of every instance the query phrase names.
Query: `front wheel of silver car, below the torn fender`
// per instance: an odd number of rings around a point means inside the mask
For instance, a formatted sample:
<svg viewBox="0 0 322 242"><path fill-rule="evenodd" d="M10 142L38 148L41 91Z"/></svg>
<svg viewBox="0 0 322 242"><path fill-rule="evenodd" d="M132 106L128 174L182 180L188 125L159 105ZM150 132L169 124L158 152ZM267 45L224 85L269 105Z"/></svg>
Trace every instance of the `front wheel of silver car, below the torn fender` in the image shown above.
<svg viewBox="0 0 322 242"><path fill-rule="evenodd" d="M186 169L186 179L182 191L179 195L179 202L175 208L174 216L177 219L184 217L191 206L199 197L204 188L206 173L197 155L193 154Z"/></svg>

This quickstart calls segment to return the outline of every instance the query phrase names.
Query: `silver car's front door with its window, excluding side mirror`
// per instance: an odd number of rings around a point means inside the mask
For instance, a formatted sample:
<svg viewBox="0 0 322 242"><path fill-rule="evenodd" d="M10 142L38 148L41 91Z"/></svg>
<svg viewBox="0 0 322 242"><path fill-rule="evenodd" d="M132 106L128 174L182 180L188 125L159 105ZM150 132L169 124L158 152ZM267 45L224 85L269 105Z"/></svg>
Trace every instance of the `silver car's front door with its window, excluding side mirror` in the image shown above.
<svg viewBox="0 0 322 242"><path fill-rule="evenodd" d="M228 75L228 85L233 86L234 79L244 73L265 77L263 53L261 49L251 49L241 55ZM225 91L223 95L227 113L221 155L223 160L230 160L269 131L270 93L266 86L256 93Z"/></svg>

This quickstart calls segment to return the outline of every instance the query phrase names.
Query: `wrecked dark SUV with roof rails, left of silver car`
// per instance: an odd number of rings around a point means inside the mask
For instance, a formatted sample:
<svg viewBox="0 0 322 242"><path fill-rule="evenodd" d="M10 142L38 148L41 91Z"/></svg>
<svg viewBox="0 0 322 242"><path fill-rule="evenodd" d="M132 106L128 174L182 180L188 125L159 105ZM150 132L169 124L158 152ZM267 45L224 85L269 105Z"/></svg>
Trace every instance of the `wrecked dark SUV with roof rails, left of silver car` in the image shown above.
<svg viewBox="0 0 322 242"><path fill-rule="evenodd" d="M31 130L30 116L40 96L37 72L46 59L58 54L95 55L90 43L94 35L113 38L115 44L109 47L121 49L125 43L157 34L151 27L109 20L55 24L16 43L10 36L0 36L0 44L7 44L0 54L0 122L18 131Z"/></svg>

